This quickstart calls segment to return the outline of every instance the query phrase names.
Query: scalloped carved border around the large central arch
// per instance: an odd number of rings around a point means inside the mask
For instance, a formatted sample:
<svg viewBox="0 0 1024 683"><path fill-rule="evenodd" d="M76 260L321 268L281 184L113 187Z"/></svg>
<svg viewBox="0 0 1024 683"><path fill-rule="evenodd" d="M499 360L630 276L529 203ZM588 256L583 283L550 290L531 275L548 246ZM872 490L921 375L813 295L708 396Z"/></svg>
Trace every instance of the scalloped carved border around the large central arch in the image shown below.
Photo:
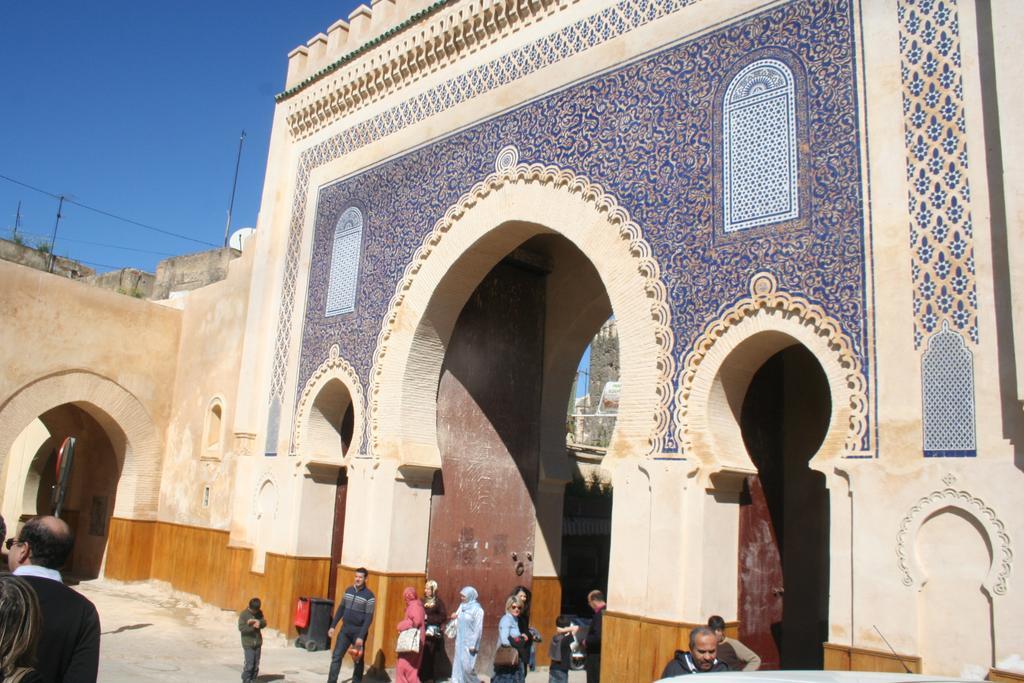
<svg viewBox="0 0 1024 683"><path fill-rule="evenodd" d="M423 239L413 258L406 265L402 278L388 303L388 310L377 337L377 352L370 372L370 440L374 454L380 452L381 445L380 379L389 351L388 342L395 332L396 321L401 312L407 292L412 288L416 275L430 258L434 248L459 224L468 211L487 196L503 187L516 184L547 185L566 195L577 196L591 204L596 213L604 216L607 225L617 230L624 248L629 251L638 272L644 279L644 296L654 323L654 341L657 347L655 362L658 370L655 392L658 407L655 424L648 438L648 453L664 450L670 426L669 405L672 400L672 378L675 374L675 360L672 356L674 337L668 292L662 283L660 268L651 253L650 245L644 240L640 226L630 218L629 212L618 205L614 197L605 193L600 184L566 169L541 164L519 164L518 161L519 153L514 146L506 146L499 152L495 162L495 173L473 185L444 212L444 216L434 224L433 229Z"/></svg>

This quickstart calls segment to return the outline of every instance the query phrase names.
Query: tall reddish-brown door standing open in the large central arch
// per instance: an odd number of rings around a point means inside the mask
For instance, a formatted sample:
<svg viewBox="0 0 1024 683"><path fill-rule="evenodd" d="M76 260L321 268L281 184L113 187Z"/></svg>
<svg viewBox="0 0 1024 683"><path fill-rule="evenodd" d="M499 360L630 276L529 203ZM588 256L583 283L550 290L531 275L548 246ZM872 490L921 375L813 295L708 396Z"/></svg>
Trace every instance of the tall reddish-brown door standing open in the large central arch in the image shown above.
<svg viewBox="0 0 1024 683"><path fill-rule="evenodd" d="M453 608L462 587L479 592L481 673L505 598L534 572L544 310L543 274L496 266L459 316L437 390L427 573Z"/></svg>

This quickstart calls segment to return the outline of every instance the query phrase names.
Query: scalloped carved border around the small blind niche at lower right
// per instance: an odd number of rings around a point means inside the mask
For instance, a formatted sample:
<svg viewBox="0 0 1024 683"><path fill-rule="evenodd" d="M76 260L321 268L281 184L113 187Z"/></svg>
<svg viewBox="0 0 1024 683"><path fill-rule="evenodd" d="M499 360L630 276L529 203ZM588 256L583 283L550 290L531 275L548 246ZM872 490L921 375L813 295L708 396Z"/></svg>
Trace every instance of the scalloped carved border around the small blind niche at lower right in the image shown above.
<svg viewBox="0 0 1024 683"><path fill-rule="evenodd" d="M1010 535L1007 533L1002 521L999 520L995 511L985 505L984 501L967 490L957 490L952 487L940 488L925 496L910 508L900 521L899 531L896 533L896 561L900 573L903 574L903 585L918 589L925 585L927 577L918 564L916 554L913 551L918 532L933 513L947 507L958 508L967 512L977 519L985 529L992 549L992 564L982 585L994 595L1006 595L1008 579L1014 561Z"/></svg>

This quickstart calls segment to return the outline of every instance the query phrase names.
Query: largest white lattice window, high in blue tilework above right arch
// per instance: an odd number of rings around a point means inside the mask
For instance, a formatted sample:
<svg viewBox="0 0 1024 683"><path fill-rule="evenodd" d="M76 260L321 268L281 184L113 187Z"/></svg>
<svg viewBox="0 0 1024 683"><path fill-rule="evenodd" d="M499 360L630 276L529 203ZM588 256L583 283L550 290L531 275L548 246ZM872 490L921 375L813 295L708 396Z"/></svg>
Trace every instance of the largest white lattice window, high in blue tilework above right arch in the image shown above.
<svg viewBox="0 0 1024 683"><path fill-rule="evenodd" d="M722 132L724 230L798 218L797 97L790 68L761 59L736 74L725 91Z"/></svg>

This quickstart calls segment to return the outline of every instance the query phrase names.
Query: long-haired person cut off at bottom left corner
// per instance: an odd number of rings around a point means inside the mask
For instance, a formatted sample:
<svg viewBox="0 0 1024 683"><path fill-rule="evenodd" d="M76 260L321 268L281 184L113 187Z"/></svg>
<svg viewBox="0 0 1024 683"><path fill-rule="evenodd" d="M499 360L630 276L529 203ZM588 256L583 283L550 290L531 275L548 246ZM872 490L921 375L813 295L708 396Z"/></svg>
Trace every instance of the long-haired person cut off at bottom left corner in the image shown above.
<svg viewBox="0 0 1024 683"><path fill-rule="evenodd" d="M42 683L32 668L36 643L43 628L39 598L17 577L0 577L0 680L3 683Z"/></svg>

